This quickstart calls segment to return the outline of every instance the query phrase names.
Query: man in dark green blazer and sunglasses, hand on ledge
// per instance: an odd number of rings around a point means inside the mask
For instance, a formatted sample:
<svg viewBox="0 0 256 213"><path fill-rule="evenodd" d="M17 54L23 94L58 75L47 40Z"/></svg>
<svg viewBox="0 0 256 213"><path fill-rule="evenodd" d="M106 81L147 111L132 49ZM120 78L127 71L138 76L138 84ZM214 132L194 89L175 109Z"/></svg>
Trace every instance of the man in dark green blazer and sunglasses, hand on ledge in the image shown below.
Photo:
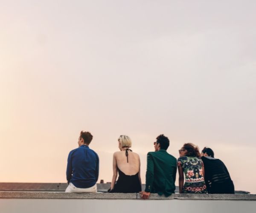
<svg viewBox="0 0 256 213"><path fill-rule="evenodd" d="M143 199L148 199L150 193L170 196L175 192L177 159L166 152L169 139L159 135L154 142L154 152L147 156L147 172L145 191L140 192Z"/></svg>

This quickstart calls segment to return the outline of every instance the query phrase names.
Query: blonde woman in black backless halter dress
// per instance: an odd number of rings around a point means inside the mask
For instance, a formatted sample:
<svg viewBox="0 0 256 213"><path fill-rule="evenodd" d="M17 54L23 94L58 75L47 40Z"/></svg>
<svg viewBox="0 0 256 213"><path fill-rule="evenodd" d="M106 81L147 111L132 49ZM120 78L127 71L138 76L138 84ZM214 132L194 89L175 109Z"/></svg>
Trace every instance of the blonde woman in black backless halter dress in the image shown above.
<svg viewBox="0 0 256 213"><path fill-rule="evenodd" d="M113 154L113 178L110 193L138 193L141 191L140 157L132 152L131 139L126 135L118 138L119 152ZM118 180L117 178L118 172Z"/></svg>

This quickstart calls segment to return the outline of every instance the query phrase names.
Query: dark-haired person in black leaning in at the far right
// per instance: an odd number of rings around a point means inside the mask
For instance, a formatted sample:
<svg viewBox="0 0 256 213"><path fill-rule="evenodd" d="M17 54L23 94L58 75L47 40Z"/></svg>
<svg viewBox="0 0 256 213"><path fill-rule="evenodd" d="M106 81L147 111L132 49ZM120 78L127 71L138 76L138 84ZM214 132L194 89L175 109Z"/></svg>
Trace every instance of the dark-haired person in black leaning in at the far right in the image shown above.
<svg viewBox="0 0 256 213"><path fill-rule="evenodd" d="M204 179L209 194L234 194L234 184L225 164L214 158L212 149L204 147L201 153L204 162Z"/></svg>

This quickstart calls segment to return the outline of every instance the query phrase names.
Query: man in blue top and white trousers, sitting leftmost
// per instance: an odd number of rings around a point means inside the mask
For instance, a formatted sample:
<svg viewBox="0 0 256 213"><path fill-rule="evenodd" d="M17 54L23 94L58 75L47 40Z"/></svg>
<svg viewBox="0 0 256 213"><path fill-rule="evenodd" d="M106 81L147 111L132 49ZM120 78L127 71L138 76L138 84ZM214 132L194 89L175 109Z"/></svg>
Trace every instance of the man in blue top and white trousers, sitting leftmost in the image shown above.
<svg viewBox="0 0 256 213"><path fill-rule="evenodd" d="M70 151L67 158L67 183L65 192L96 193L99 177L99 157L89 148L93 139L90 132L81 131L79 147Z"/></svg>

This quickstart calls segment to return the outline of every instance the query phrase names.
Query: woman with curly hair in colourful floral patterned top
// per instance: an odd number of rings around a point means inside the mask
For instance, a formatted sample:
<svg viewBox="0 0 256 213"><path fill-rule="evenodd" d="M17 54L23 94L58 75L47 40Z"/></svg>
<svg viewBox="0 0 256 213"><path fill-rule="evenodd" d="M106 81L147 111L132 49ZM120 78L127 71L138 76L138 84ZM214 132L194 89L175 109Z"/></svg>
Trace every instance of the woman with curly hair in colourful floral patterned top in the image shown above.
<svg viewBox="0 0 256 213"><path fill-rule="evenodd" d="M179 153L180 158L177 160L177 166L180 193L205 194L207 190L204 182L204 164L200 158L198 147L191 143L184 144Z"/></svg>

